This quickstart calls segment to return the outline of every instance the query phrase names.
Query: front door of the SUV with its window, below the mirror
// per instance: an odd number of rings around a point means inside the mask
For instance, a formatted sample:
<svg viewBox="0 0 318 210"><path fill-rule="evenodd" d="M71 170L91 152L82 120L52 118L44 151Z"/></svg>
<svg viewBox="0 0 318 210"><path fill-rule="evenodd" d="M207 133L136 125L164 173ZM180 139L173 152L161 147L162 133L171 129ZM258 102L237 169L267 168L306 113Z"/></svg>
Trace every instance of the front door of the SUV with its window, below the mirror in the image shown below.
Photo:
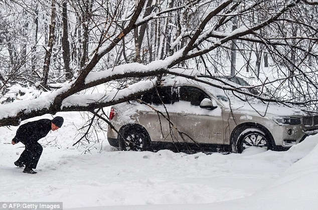
<svg viewBox="0 0 318 210"><path fill-rule="evenodd" d="M213 110L200 108L200 103L204 98L210 99L199 88L180 87L179 102L176 102L179 107L177 126L183 138L179 135L179 142L224 143L222 109L220 106Z"/></svg>

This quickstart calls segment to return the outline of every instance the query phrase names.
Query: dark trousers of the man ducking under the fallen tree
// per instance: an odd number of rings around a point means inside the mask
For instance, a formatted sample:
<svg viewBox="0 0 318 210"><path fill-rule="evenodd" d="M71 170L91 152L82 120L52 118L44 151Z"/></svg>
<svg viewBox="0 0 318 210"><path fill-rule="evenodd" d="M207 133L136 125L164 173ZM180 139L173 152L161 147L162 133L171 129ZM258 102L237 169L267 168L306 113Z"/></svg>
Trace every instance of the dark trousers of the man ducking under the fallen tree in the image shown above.
<svg viewBox="0 0 318 210"><path fill-rule="evenodd" d="M26 148L17 161L25 164L26 167L37 168L43 147L38 142L28 142L24 145Z"/></svg>

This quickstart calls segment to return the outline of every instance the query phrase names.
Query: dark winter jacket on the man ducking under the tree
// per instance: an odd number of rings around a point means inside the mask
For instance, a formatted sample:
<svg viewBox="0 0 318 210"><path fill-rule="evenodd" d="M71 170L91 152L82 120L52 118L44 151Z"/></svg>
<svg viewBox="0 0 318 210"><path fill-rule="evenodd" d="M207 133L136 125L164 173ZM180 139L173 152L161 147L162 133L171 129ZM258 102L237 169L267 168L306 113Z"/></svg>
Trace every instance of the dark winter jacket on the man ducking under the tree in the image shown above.
<svg viewBox="0 0 318 210"><path fill-rule="evenodd" d="M34 143L45 137L51 130L51 120L41 119L21 125L13 138L15 143Z"/></svg>

